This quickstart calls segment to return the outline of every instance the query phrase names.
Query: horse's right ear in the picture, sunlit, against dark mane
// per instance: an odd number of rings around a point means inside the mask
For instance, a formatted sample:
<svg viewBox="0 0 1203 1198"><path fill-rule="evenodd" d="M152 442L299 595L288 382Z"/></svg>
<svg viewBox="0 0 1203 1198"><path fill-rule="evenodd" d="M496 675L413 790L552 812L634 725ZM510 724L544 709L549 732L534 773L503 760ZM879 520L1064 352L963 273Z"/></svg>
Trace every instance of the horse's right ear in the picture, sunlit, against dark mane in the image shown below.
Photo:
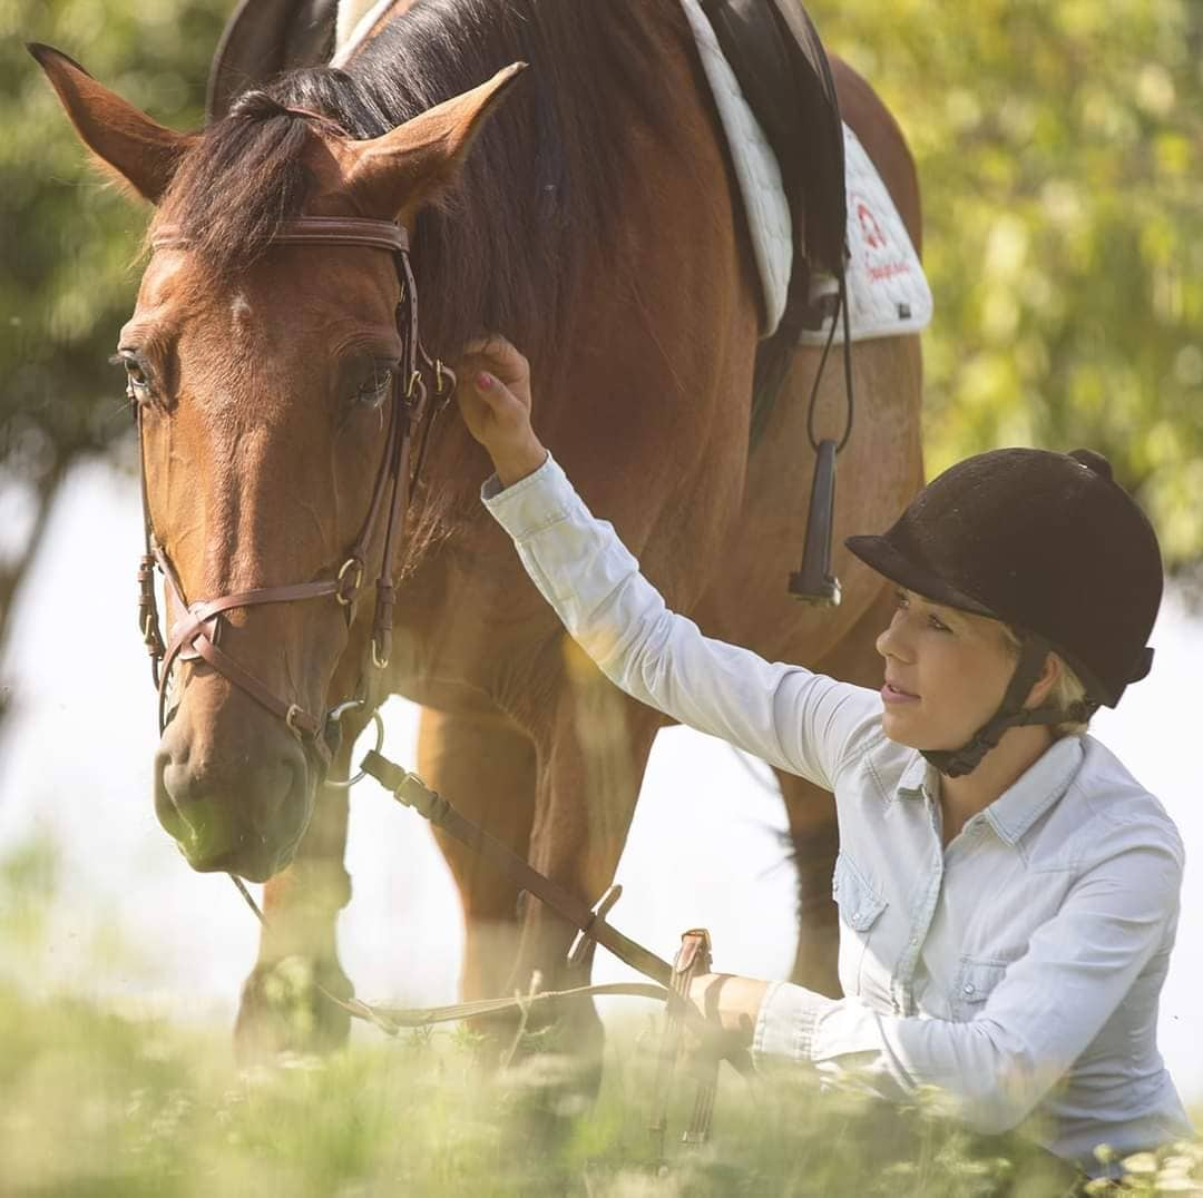
<svg viewBox="0 0 1203 1198"><path fill-rule="evenodd" d="M351 142L346 184L360 208L381 220L408 224L419 208L455 183L476 135L526 67L526 63L512 63L487 83L383 137Z"/></svg>

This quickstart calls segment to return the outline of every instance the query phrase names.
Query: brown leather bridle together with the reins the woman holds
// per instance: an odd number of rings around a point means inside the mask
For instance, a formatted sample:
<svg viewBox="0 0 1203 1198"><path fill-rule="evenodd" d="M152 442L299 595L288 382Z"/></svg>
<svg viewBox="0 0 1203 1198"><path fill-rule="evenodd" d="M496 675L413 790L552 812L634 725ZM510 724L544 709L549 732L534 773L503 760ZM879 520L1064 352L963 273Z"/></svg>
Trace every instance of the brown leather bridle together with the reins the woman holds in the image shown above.
<svg viewBox="0 0 1203 1198"><path fill-rule="evenodd" d="M150 244L155 250L190 248L189 239L172 225L160 226ZM236 609L333 598L344 609L346 625L350 628L355 618L355 604L368 570L368 553L379 533L381 520L384 520L384 548L375 580L375 611L366 654L371 658L371 663L365 662L363 675L367 676L369 664L378 670L383 670L389 664L392 609L396 594L392 576L393 562L401 536L404 533L414 491L421 476L426 450L429 445L431 428L439 413L454 396L456 378L455 373L440 361L432 360L421 344L417 328L417 286L409 261L409 236L404 229L392 221L307 217L284 221L271 244L346 245L385 251L393 256L401 287L397 302L397 330L402 340L402 361L392 381L389 437L367 517L342 565L328 577L285 586L256 587L189 603L179 575L162 542L155 535L150 518L143 415L141 405L135 403L144 538L144 551L138 567L138 627L150 654L152 678L159 690L160 735L170 720L167 696L173 668L178 662L203 660L260 706L283 719L295 736L307 747L313 748L320 758L322 767L328 769L332 755L330 741L339 717L348 708L363 705L366 699L345 700L320 717L304 711L298 704L275 694L271 687L219 647L223 621L229 612ZM429 396L427 376L432 379L434 393L439 397L433 407L427 402ZM132 393L131 398L134 398ZM415 432L420 432L421 446L416 463L411 465ZM160 630L155 595L154 573L156 569L164 575L166 593L183 612L168 629L168 640L166 641ZM379 730L379 717L377 719ZM668 1022L656 1072L653 1115L650 1127L657 1157L663 1157L668 1087L681 1056L685 1028L692 1026L701 1032L711 1030L707 1021L693 1010L688 1001L689 984L693 978L711 968L709 933L701 929L692 929L686 932L682 936L681 949L676 959L669 965L668 961L623 936L606 921L605 914L621 894L621 888L611 886L597 907L588 907L551 878L539 873L482 828L461 816L442 795L431 790L417 775L402 770L384 758L379 753L379 739L377 749L367 754L356 778L363 777L365 773L369 773L380 782L398 802L413 807L432 824L480 853L492 865L508 873L522 890L537 896L571 923L580 932L569 954L571 966L587 969L592 962L593 949L597 944L602 944L621 961L650 978L651 984L614 983L576 986L563 991L533 990L528 995L512 998L485 998L476 1002L423 1009L373 1007L355 998L346 1001L320 985L318 986L319 992L352 1018L374 1024L390 1036L396 1036L404 1027L426 1027L432 1024L479 1018L514 1009L522 1013L522 1026L525 1027L526 1016L533 1006L586 996L628 995L665 1002L668 1004ZM327 784L348 785L349 783ZM230 874L230 877L256 918L266 926L267 919L243 880L236 874ZM733 1064L741 1073L751 1071L749 1058L733 1061ZM704 1071L700 1071L693 1117L682 1137L685 1143L700 1144L706 1141L713 1113L717 1079L718 1060L715 1058L707 1062Z"/></svg>

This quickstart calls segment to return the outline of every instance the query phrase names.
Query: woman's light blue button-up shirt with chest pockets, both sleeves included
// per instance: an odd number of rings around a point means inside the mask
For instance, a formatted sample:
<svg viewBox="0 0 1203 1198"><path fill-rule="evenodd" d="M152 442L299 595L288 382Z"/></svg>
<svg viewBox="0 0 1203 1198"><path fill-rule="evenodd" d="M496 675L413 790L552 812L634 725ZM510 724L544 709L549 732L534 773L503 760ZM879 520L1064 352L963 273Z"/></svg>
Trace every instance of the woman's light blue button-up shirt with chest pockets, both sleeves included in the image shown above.
<svg viewBox="0 0 1203 1198"><path fill-rule="evenodd" d="M940 775L882 731L877 692L769 663L666 610L549 457L481 498L568 631L628 694L835 794L840 983L772 983L761 1068L907 1099L937 1087L980 1132L1100 1172L1191 1127L1156 1045L1184 852L1090 736L1056 741L942 846Z"/></svg>

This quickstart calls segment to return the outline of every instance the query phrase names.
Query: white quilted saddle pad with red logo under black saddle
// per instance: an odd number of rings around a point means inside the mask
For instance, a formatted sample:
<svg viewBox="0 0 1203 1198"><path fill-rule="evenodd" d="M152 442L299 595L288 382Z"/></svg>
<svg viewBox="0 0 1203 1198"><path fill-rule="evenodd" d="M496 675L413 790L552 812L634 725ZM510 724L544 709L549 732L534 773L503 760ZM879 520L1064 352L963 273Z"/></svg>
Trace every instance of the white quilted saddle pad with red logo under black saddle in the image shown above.
<svg viewBox="0 0 1203 1198"><path fill-rule="evenodd" d="M340 0L337 47L331 65L342 66L396 0ZM718 37L699 0L681 0L701 65L710 82L731 150L735 174L743 196L752 253L764 296L761 337L776 332L786 310L789 275L794 265L793 219L781 183L781 167L769 140L755 119L730 64L723 58ZM906 225L857 135L843 126L848 185L848 315L852 339L917 333L931 322L931 290L911 244ZM812 295L834 287L834 280L817 275ZM822 344L830 320L808 330L804 344ZM838 324L835 340L843 340Z"/></svg>

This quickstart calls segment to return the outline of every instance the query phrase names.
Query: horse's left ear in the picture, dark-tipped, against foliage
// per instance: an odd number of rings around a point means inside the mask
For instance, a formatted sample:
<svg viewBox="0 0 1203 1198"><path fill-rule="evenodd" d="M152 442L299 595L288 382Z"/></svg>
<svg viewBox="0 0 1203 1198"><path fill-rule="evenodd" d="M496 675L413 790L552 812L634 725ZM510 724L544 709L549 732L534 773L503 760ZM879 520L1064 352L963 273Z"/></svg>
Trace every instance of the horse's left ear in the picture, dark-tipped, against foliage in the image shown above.
<svg viewBox="0 0 1203 1198"><path fill-rule="evenodd" d="M78 63L37 42L26 49L37 59L79 137L138 195L158 203L167 190L194 135L177 134L99 84Z"/></svg>

